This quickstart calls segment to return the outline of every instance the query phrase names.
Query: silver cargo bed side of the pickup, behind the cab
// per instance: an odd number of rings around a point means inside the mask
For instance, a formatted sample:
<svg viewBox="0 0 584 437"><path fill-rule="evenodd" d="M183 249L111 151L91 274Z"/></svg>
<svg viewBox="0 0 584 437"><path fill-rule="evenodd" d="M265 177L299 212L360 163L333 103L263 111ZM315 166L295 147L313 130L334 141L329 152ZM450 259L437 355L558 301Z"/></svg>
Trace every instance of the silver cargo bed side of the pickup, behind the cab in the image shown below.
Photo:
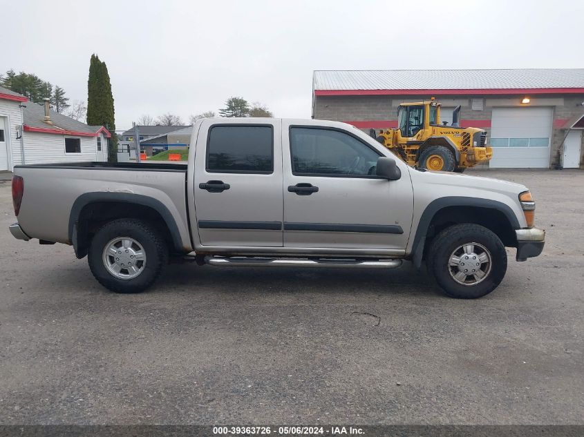
<svg viewBox="0 0 584 437"><path fill-rule="evenodd" d="M73 244L77 215L89 202L156 205L174 222L180 251L192 250L186 204L187 164L68 162L15 166L23 177L21 229L39 240ZM146 202L146 203L144 203Z"/></svg>

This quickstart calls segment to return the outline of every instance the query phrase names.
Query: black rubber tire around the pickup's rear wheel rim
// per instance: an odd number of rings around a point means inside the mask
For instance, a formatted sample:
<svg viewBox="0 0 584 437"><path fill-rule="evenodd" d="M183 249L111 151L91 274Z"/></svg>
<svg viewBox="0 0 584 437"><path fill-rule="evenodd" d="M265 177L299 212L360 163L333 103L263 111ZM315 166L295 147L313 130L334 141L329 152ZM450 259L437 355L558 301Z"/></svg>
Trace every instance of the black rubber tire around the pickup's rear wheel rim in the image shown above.
<svg viewBox="0 0 584 437"><path fill-rule="evenodd" d="M104 251L106 246L118 237L129 237L135 240L142 246L145 253L143 270L135 278L116 278L106 267ZM123 248L120 247L120 249ZM162 235L148 222L119 219L104 224L97 231L89 245L87 258L91 273L106 289L116 293L140 293L158 279L162 269L168 263L169 251Z"/></svg>

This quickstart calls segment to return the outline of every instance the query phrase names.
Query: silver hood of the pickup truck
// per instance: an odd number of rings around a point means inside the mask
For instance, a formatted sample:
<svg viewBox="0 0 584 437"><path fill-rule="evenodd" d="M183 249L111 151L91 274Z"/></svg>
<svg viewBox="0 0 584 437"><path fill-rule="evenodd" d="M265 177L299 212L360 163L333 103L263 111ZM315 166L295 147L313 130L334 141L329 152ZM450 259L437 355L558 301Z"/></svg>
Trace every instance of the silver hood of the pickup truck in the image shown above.
<svg viewBox="0 0 584 437"><path fill-rule="evenodd" d="M431 185L453 186L457 188L464 186L512 195L518 195L528 189L525 185L494 179L492 177L462 175L460 173L449 173L446 171L420 171L415 168L410 168L409 171L412 179Z"/></svg>

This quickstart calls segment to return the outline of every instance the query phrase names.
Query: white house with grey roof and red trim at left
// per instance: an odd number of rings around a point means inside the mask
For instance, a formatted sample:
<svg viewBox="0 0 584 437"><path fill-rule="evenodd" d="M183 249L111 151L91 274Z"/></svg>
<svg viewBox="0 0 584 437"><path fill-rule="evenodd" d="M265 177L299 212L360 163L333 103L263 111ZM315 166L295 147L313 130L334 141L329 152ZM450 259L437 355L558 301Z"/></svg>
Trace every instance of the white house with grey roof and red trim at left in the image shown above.
<svg viewBox="0 0 584 437"><path fill-rule="evenodd" d="M0 171L19 164L107 161L111 134L0 87Z"/></svg>

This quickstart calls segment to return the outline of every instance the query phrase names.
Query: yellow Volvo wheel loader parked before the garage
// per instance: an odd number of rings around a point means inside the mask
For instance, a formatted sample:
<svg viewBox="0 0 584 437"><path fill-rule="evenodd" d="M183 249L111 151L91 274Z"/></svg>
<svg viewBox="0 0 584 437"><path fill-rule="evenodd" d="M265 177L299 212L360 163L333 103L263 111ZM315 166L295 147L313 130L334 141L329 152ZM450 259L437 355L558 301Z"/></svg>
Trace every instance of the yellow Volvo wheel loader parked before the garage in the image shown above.
<svg viewBox="0 0 584 437"><path fill-rule="evenodd" d="M370 135L402 158L408 165L435 171L456 171L485 162L493 156L486 146L487 132L478 128L461 128L460 106L453 111L452 124L440 124L440 104L431 101L404 103L397 111L397 129L381 130Z"/></svg>

